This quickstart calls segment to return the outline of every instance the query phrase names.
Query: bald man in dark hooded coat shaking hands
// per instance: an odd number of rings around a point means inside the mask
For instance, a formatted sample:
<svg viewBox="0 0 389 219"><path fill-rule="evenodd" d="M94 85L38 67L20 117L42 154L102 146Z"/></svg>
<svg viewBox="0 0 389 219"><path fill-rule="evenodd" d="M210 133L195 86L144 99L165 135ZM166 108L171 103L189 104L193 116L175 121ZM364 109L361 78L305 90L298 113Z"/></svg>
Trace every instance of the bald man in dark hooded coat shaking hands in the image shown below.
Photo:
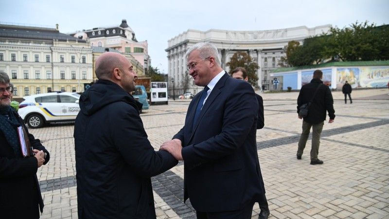
<svg viewBox="0 0 389 219"><path fill-rule="evenodd" d="M155 151L129 94L137 74L119 53L96 60L99 79L80 97L74 127L79 219L155 219L151 177L178 161Z"/></svg>

